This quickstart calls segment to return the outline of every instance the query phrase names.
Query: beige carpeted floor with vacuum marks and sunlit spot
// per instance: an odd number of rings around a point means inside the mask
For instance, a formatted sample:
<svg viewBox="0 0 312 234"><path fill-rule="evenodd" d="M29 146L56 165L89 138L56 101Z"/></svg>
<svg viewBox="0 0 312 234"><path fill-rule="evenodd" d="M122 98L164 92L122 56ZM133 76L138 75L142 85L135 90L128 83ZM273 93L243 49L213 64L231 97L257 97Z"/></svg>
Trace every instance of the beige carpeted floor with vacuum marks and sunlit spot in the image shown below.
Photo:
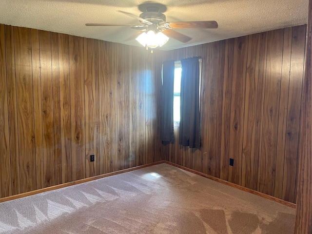
<svg viewBox="0 0 312 234"><path fill-rule="evenodd" d="M0 203L0 234L292 234L295 209L159 164Z"/></svg>

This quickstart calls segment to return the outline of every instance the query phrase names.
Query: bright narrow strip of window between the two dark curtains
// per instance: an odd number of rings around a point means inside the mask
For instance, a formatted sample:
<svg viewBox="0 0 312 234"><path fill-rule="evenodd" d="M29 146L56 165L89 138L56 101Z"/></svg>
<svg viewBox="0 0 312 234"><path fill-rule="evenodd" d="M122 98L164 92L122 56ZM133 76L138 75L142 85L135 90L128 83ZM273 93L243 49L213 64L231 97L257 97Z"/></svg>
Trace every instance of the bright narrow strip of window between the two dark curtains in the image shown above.
<svg viewBox="0 0 312 234"><path fill-rule="evenodd" d="M174 123L180 122L180 89L181 89L181 61L175 61L174 78Z"/></svg>

